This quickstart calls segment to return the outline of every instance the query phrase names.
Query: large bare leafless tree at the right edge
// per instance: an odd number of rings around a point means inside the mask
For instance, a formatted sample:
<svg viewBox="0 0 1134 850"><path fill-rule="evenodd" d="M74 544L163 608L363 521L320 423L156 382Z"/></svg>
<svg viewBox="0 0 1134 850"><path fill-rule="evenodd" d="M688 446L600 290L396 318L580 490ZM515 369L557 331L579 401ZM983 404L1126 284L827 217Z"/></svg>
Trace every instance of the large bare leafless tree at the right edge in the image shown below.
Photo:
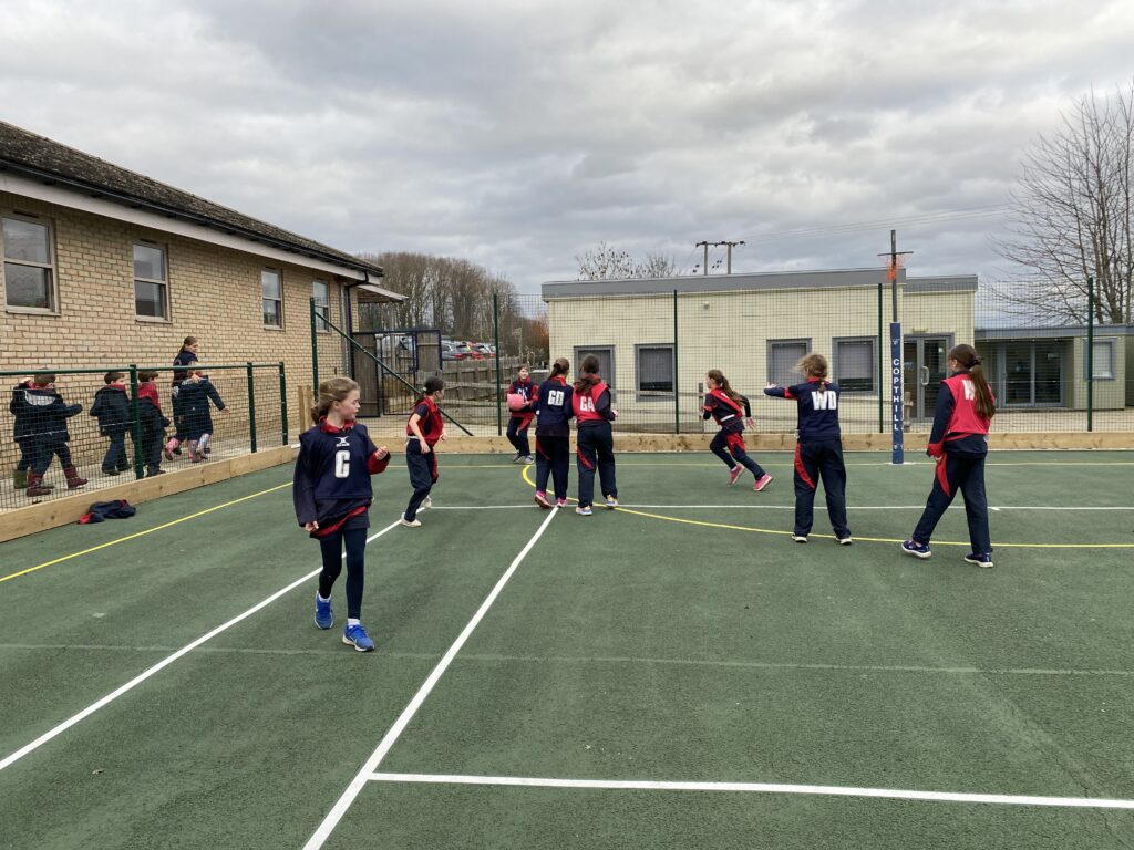
<svg viewBox="0 0 1134 850"><path fill-rule="evenodd" d="M1092 92L1041 136L1012 196L1010 236L1000 254L1032 280L1004 288L1013 313L1059 323L1086 321L1086 279L1094 278L1094 320L1131 321L1134 83L1114 96Z"/></svg>

